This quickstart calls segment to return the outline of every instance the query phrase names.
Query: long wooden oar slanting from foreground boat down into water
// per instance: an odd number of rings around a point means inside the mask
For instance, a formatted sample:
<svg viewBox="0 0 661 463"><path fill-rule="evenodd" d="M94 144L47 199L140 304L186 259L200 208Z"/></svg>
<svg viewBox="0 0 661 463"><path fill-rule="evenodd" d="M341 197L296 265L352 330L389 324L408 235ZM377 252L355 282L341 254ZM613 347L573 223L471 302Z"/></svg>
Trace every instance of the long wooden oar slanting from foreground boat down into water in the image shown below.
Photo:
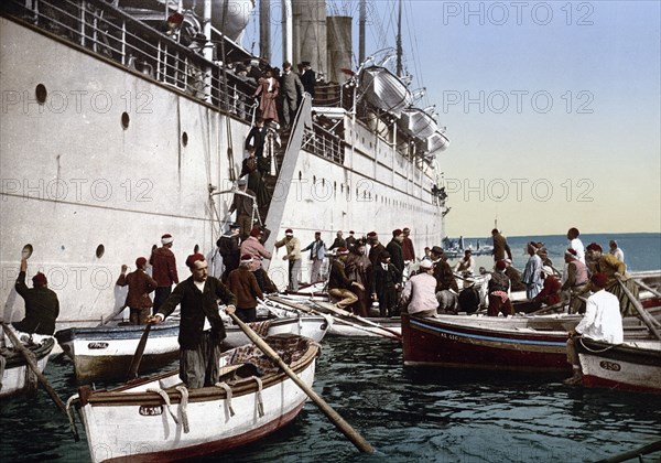
<svg viewBox="0 0 661 463"><path fill-rule="evenodd" d="M337 429L345 434L356 448L365 453L373 453L372 446L356 431L351 426L344 420L339 416L337 411L335 411L328 403L324 401L310 386L307 386L299 376L289 367L288 364L284 363L282 358L269 346L264 341L262 341L256 332L253 332L250 326L246 323L241 322L237 315L234 313L228 314L231 320L239 325L239 327L246 333L246 335L269 358L271 358L278 366L289 376L295 384L299 386L306 395L311 398L311 400L322 410L322 412L335 424Z"/></svg>

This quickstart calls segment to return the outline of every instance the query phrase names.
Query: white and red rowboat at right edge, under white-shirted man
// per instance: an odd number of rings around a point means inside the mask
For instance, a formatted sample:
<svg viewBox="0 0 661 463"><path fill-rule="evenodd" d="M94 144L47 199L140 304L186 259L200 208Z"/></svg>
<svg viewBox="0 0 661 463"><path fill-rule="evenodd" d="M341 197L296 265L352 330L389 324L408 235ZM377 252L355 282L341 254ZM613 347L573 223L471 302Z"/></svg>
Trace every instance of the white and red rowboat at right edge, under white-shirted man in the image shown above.
<svg viewBox="0 0 661 463"><path fill-rule="evenodd" d="M661 341L576 344L584 386L661 394Z"/></svg>

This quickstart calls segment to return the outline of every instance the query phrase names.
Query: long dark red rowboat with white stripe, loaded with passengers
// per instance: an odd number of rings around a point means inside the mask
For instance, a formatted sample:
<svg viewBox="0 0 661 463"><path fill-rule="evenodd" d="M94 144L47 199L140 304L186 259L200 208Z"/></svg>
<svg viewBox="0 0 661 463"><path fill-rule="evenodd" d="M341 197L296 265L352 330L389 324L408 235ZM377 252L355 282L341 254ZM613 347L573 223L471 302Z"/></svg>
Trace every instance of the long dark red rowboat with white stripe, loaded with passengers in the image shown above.
<svg viewBox="0 0 661 463"><path fill-rule="evenodd" d="M423 319L402 314L404 365L568 373L567 332L581 317L563 314ZM625 340L647 338L647 327L635 317L625 319Z"/></svg>

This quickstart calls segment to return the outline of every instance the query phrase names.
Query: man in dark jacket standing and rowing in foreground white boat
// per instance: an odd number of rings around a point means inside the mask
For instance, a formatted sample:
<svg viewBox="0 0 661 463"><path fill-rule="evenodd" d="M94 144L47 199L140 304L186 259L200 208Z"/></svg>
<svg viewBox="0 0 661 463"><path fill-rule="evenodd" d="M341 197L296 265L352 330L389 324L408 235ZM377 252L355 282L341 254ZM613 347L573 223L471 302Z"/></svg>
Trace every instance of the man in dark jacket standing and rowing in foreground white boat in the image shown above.
<svg viewBox="0 0 661 463"><path fill-rule="evenodd" d="M220 344L225 325L218 303L234 313L237 298L215 277L207 276L207 261L202 254L186 259L191 277L176 286L149 323L159 324L181 305L180 378L188 389L214 386L218 381Z"/></svg>

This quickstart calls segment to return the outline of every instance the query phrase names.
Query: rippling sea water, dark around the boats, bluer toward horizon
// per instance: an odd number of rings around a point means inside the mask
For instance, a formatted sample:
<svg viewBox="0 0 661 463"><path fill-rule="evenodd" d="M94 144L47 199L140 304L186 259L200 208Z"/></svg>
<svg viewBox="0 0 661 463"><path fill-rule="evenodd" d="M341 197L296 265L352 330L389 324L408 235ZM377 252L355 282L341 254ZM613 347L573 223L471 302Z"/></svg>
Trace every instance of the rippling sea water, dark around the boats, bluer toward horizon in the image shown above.
<svg viewBox="0 0 661 463"><path fill-rule="evenodd" d="M604 246L613 237L583 238ZM545 241L551 258L556 252L562 261L565 237L508 237L516 262L531 239ZM635 270L661 268L659 235L615 239ZM52 360L45 373L65 400L76 391L67 360ZM661 396L566 387L562 379L404 368L392 341L327 337L314 389L377 453L360 454L306 403L290 427L207 461L589 462L661 439ZM78 430L82 441L74 442L66 418L43 390L0 402L3 462L87 462L79 423Z"/></svg>

